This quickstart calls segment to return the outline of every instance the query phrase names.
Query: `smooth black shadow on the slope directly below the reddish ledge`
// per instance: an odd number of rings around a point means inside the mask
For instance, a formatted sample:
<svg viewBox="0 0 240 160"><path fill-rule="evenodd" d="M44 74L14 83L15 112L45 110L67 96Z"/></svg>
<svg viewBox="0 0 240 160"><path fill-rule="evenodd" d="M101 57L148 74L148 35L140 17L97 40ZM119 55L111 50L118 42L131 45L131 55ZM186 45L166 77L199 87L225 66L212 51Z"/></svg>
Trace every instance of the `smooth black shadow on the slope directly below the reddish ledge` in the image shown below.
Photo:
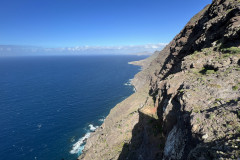
<svg viewBox="0 0 240 160"><path fill-rule="evenodd" d="M163 147L159 121L139 111L139 122L132 130L132 139L124 144L118 160L160 159Z"/></svg>

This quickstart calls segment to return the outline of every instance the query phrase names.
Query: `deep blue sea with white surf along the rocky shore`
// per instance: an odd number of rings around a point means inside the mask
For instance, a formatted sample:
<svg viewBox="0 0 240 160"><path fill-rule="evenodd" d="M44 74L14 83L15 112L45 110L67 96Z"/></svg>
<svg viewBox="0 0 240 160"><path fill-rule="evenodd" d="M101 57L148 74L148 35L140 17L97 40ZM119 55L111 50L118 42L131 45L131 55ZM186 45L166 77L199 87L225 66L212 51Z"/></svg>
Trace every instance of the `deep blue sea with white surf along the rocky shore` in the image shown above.
<svg viewBox="0 0 240 160"><path fill-rule="evenodd" d="M145 56L0 58L0 159L76 160Z"/></svg>

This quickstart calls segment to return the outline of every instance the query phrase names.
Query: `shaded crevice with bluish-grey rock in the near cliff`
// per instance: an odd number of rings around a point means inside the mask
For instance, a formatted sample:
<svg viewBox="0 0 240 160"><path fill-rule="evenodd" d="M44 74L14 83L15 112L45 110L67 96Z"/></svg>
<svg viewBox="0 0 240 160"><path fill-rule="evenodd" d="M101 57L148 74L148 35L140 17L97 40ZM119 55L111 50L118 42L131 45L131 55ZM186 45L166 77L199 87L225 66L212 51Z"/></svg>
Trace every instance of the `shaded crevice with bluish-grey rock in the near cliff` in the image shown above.
<svg viewBox="0 0 240 160"><path fill-rule="evenodd" d="M191 131L190 113L183 111L183 106L180 104L179 98L180 94L172 99L173 109L168 113L168 116L172 114L171 118L175 117L175 123L166 121L163 127L165 130L169 130L169 132L166 132L165 134L166 145L164 148L163 159L166 160L186 159L191 148L194 148L200 143L200 136L193 136L194 134ZM170 125L166 123L170 123Z"/></svg>

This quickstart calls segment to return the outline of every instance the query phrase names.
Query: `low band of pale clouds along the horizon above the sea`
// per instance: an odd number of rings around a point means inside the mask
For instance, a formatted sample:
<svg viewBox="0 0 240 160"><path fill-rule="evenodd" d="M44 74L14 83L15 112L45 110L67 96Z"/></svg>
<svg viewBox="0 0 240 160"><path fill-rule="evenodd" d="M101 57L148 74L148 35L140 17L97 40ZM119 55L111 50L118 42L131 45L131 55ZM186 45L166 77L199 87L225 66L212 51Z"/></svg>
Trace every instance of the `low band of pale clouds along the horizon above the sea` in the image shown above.
<svg viewBox="0 0 240 160"><path fill-rule="evenodd" d="M44 48L32 46L0 45L0 56L43 56L43 55L150 55L162 50L167 44L127 46L76 46Z"/></svg>

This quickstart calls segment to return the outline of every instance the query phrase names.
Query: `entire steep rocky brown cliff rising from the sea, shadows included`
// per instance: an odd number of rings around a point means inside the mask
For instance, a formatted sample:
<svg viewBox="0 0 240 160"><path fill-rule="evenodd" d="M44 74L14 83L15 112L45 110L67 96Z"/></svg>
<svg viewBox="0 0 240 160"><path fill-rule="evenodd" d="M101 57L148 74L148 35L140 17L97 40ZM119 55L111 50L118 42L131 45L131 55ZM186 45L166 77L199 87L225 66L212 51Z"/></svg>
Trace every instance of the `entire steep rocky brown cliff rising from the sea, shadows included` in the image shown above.
<svg viewBox="0 0 240 160"><path fill-rule="evenodd" d="M79 159L240 158L240 1L214 0L135 76Z"/></svg>

